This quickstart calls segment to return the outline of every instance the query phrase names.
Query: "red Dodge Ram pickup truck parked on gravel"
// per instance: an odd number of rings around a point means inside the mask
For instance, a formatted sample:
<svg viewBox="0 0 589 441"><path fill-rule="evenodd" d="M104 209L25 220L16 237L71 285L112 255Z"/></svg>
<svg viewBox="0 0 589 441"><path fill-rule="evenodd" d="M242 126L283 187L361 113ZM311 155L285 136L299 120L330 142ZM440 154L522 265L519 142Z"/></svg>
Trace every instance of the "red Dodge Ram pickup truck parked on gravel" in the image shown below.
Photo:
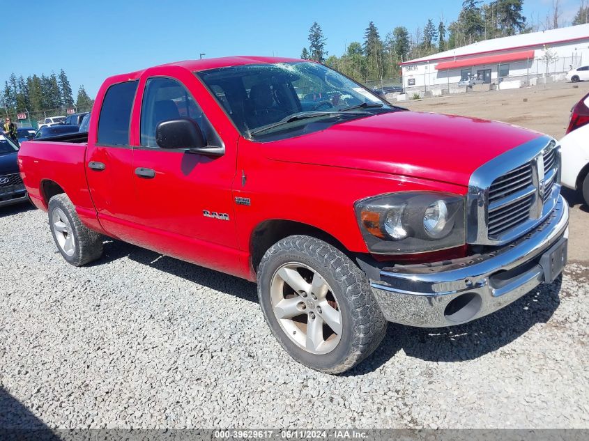
<svg viewBox="0 0 589 441"><path fill-rule="evenodd" d="M466 323L566 261L560 147L407 111L319 63L230 57L111 77L87 134L24 142L72 265L104 236L257 281L272 332L339 373L387 321Z"/></svg>

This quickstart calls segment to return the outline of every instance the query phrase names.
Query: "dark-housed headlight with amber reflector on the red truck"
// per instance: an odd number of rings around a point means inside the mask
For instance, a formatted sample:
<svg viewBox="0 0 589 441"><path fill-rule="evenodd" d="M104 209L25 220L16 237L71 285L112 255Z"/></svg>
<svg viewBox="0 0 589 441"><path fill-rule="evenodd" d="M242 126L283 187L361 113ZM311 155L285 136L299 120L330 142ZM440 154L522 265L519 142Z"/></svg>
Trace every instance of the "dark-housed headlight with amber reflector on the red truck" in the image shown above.
<svg viewBox="0 0 589 441"><path fill-rule="evenodd" d="M465 243L464 197L441 192L383 194L355 203L370 252L408 254Z"/></svg>

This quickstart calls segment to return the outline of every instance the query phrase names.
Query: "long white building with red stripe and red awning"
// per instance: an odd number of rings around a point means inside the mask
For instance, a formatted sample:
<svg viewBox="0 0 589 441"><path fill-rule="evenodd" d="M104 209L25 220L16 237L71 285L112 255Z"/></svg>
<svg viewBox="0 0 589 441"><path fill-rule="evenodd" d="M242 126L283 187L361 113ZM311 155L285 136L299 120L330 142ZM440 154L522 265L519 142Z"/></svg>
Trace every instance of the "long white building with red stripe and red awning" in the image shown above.
<svg viewBox="0 0 589 441"><path fill-rule="evenodd" d="M589 24L475 42L401 63L403 86L428 91L469 76L487 84L568 72L589 65Z"/></svg>

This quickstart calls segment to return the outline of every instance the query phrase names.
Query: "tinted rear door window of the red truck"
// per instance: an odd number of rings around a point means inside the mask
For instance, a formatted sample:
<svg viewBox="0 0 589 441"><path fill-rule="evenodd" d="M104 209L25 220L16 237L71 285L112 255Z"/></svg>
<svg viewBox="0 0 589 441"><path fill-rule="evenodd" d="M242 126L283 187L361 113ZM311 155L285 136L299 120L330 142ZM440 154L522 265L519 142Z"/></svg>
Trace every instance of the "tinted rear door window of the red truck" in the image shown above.
<svg viewBox="0 0 589 441"><path fill-rule="evenodd" d="M98 144L129 145L129 124L137 84L137 81L124 82L108 88L98 118Z"/></svg>

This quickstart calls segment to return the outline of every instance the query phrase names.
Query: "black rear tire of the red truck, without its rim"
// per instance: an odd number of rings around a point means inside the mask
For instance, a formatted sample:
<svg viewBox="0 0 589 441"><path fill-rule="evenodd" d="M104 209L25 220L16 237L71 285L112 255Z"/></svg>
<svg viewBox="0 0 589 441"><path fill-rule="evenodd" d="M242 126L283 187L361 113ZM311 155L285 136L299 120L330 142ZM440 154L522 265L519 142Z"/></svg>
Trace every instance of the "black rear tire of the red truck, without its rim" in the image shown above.
<svg viewBox="0 0 589 441"><path fill-rule="evenodd" d="M71 234L74 239L72 254L64 251L57 238L59 232L56 231L57 227L52 220L54 219L56 210L61 210L59 213L63 213L69 222L67 233ZM66 259L66 262L74 266L82 266L102 256L102 236L82 224L76 213L74 204L72 204L72 201L70 201L70 198L66 194L56 194L56 196L49 199L49 210L47 210L47 214L49 215L49 229L51 229L53 240L61 256Z"/></svg>

